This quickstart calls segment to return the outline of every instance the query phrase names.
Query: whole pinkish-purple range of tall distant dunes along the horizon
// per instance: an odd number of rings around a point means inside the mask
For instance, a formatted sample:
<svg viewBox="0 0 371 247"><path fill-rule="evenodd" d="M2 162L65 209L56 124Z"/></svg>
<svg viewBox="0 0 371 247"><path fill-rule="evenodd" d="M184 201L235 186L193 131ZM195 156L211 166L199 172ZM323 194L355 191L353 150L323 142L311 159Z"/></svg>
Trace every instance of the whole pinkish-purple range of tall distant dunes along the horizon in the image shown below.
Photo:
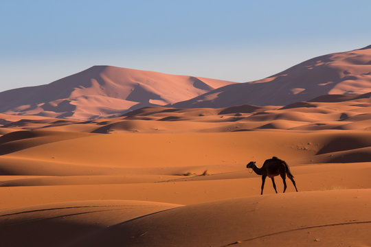
<svg viewBox="0 0 371 247"><path fill-rule="evenodd" d="M50 84L0 93L0 113L86 120L116 117L145 106L286 106L321 95L370 91L371 45L319 56L245 83L93 66Z"/></svg>

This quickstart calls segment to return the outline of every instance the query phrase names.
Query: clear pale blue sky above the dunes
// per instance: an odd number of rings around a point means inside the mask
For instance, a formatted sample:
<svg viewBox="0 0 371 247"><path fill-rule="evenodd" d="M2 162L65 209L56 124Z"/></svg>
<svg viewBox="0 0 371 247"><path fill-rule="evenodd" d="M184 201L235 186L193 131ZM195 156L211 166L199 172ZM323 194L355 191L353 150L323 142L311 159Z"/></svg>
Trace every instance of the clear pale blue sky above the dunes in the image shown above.
<svg viewBox="0 0 371 247"><path fill-rule="evenodd" d="M371 45L369 0L0 0L0 91L93 65L248 82Z"/></svg>

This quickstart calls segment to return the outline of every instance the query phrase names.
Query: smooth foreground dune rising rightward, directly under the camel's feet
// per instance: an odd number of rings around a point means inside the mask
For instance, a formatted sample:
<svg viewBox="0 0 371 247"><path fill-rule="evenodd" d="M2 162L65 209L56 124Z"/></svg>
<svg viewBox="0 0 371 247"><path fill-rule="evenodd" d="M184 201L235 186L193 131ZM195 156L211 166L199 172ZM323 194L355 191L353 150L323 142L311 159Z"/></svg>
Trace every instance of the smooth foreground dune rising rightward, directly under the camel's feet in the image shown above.
<svg viewBox="0 0 371 247"><path fill-rule="evenodd" d="M371 236L366 233L371 228L370 203L369 189L210 202L123 222L82 243L91 246L286 246L289 242L313 246L320 242L319 246L354 243L367 246L371 244ZM339 204L341 208L333 211ZM341 235L345 231L348 234Z"/></svg>

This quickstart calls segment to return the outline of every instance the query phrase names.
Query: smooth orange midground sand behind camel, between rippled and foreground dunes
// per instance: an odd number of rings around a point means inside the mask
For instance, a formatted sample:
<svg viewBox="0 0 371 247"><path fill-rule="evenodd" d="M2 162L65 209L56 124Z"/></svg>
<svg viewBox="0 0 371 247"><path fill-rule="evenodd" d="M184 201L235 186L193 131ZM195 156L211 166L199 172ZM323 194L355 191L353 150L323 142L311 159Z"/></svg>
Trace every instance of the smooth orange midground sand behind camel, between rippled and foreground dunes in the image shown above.
<svg viewBox="0 0 371 247"><path fill-rule="evenodd" d="M0 137L0 149L8 147L0 157L0 196L8 199L0 208L98 198L190 204L255 195L260 178L245 165L271 156L291 165L301 191L368 188L370 134L15 132Z"/></svg>

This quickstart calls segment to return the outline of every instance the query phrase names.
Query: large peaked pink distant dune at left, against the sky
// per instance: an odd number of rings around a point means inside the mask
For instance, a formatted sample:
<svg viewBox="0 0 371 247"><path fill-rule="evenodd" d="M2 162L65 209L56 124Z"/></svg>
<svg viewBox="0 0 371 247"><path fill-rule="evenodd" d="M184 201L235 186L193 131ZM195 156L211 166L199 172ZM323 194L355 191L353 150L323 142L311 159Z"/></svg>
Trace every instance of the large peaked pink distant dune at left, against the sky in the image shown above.
<svg viewBox="0 0 371 247"><path fill-rule="evenodd" d="M50 84L0 93L0 113L94 119L163 106L232 84L223 80L93 66Z"/></svg>

